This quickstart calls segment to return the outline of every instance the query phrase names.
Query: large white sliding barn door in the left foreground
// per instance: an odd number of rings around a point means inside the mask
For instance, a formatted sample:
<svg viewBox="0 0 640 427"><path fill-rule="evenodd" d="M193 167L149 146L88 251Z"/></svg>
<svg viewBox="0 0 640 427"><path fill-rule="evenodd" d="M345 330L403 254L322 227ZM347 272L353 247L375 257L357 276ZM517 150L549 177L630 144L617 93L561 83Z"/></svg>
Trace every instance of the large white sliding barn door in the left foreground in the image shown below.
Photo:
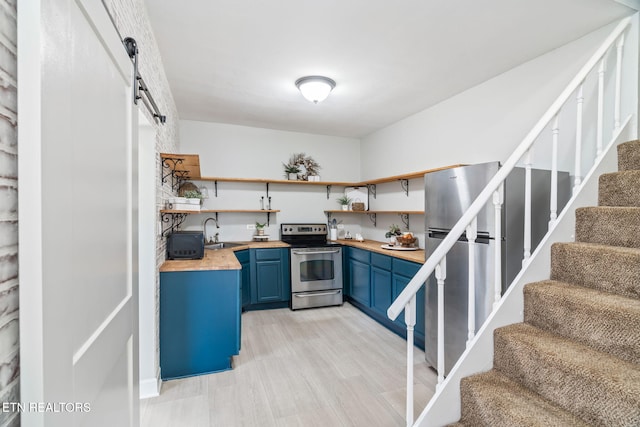
<svg viewBox="0 0 640 427"><path fill-rule="evenodd" d="M97 0L20 1L18 40L22 426L135 426L132 64Z"/></svg>

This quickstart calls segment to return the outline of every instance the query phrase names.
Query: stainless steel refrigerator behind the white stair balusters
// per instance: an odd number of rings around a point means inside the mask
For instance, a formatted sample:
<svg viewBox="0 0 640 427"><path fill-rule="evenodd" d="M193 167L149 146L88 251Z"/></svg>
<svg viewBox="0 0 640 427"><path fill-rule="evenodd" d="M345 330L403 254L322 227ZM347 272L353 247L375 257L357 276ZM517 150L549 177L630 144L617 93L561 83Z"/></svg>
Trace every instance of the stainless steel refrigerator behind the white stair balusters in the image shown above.
<svg viewBox="0 0 640 427"><path fill-rule="evenodd" d="M446 169L425 175L425 250L429 257L449 230L484 189L500 167L499 162ZM558 174L558 212L571 196L570 177ZM488 203L478 215L476 242L476 332L491 313L494 288L494 245L502 245L502 292L521 269L524 254L525 171L515 168L504 185L502 239L496 242L495 211ZM546 234L549 222L551 173L532 170L531 252ZM444 354L445 375L465 349L468 332L469 247L463 235L447 255L445 280ZM435 275L425 293L425 358L437 367L438 290Z"/></svg>

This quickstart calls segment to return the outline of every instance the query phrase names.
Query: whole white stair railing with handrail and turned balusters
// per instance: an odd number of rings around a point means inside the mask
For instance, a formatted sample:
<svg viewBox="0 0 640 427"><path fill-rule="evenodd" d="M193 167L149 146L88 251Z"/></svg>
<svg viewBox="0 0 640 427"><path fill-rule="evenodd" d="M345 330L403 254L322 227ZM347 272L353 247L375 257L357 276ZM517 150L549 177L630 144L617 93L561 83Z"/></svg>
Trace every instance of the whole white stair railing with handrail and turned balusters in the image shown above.
<svg viewBox="0 0 640 427"><path fill-rule="evenodd" d="M524 253L523 267L527 264L531 252L531 169L533 166L533 146L539 139L542 132L550 128L552 145L548 154L551 167L551 198L549 212L549 228L551 228L558 217L557 212L557 182L558 182L558 145L560 140L560 115L563 108L568 108L567 104L574 96L576 102L575 115L575 152L573 162L573 192L575 193L582 183L582 161L583 161L583 125L584 125L584 89L587 77L595 70L597 73L597 113L596 113L596 137L594 152L596 153L593 161L597 160L602 153L602 140L604 134L604 126L606 121L604 114L605 108L605 72L606 61L608 55L613 53L616 55L615 65L615 89L613 94L613 114L612 114L612 133L615 133L620 127L621 114L621 93L622 93L622 52L624 46L624 33L631 23L631 17L625 18L616 26L612 33L602 43L594 55L587 61L584 67L578 72L574 79L567 85L560 96L555 100L551 107L543 114L542 118L536 123L532 130L525 136L511 156L504 162L504 165L498 170L496 175L489 181L487 186L482 190L480 195L473 201L469 209L464 213L456 225L451 229L449 234L441 241L440 245L434 253L426 260L420 270L411 279L405 289L400 293L396 300L387 310L387 316L391 320L395 320L404 310L404 319L407 325L407 393L406 393L406 424L413 425L413 329L416 324L416 294L425 284L429 276L435 273L438 295L438 325L437 325L437 371L439 388L444 381L444 287L446 286L446 256L451 250L455 242L467 233L469 245L469 331L467 337L467 345L471 343L476 333L475 325L475 257L473 256L473 246L477 236L476 221L479 212L486 204L492 203L495 212L495 230L496 240L502 236L501 215L503 205L503 185L507 176L519 164L523 162L525 167L525 210L524 210ZM615 52L613 47L615 46ZM610 109L611 110L611 109ZM495 310L501 298L502 292L502 256L501 245L495 245L495 283L494 283L494 304Z"/></svg>

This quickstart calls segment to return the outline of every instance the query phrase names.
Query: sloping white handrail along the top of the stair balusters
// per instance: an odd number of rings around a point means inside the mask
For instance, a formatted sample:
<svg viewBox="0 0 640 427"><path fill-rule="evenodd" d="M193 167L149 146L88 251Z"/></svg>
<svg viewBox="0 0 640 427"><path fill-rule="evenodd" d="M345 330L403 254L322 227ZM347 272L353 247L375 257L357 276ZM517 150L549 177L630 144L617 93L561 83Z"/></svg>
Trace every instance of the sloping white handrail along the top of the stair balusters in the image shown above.
<svg viewBox="0 0 640 427"><path fill-rule="evenodd" d="M478 215L478 213L480 213L480 210L484 207L484 205L489 200L491 200L493 192L498 189L503 181L505 181L520 158L522 158L522 156L524 156L525 153L531 148L543 129L547 126L547 124L551 122L555 115L560 112L561 107L567 102L571 94L574 93L576 89L578 89L589 72L596 66L596 64L598 64L598 61L600 61L604 57L604 55L609 50L609 47L618 39L618 37L629 26L630 23L631 17L627 17L620 21L613 32L605 39L598 50L596 50L591 59L587 61L587 63L580 69L578 74L573 78L573 80L571 80L571 82L567 85L560 96L558 96L553 104L551 104L551 107L549 107L549 109L542 115L540 120L538 120L536 125L531 129L531 131L529 131L520 145L504 162L504 165L489 181L484 190L482 190L478 197L473 201L471 206L469 206L469 209L464 213L464 215L460 218L456 225L453 226L449 234L447 234L447 236L442 240L440 245L438 245L438 248L435 250L433 255L431 255L429 259L426 260L420 270L418 270L416 275L411 279L409 284L407 284L400 295L398 295L391 306L389 306L389 309L387 310L387 316L389 317L389 319L395 320L400 315L402 310L404 310L404 307L409 303L411 298L416 293L418 293L422 285L435 270L436 265L438 265L444 258L444 256L451 250L455 242L462 235L462 233L464 233L471 221ZM616 111L618 110L619 107L616 107Z"/></svg>

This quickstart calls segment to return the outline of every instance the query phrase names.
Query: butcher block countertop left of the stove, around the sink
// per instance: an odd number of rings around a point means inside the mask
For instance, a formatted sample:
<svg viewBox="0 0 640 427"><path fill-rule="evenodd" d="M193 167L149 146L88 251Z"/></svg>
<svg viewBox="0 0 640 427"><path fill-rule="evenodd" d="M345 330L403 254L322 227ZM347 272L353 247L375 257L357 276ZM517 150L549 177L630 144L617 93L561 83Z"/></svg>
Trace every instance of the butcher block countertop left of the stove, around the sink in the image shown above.
<svg viewBox="0 0 640 427"><path fill-rule="evenodd" d="M288 248L289 245L280 240L267 242L233 242L242 243L229 249L205 249L202 259L166 260L160 266L161 273L176 271L207 271L207 270L240 270L242 267L234 252L244 249Z"/></svg>

